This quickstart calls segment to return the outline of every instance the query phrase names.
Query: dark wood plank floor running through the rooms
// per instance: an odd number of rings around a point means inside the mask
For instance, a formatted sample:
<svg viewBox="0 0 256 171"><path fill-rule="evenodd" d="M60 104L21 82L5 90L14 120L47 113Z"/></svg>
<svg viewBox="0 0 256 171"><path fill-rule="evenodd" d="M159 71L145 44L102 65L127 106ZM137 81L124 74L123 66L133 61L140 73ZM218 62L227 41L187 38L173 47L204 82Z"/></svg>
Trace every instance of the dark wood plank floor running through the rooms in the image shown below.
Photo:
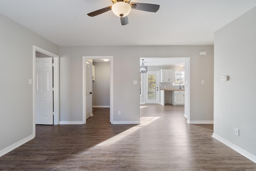
<svg viewBox="0 0 256 171"><path fill-rule="evenodd" d="M142 105L140 125L111 125L95 108L85 125L36 125L36 138L0 157L0 170L246 171L256 164L187 124L184 106Z"/></svg>

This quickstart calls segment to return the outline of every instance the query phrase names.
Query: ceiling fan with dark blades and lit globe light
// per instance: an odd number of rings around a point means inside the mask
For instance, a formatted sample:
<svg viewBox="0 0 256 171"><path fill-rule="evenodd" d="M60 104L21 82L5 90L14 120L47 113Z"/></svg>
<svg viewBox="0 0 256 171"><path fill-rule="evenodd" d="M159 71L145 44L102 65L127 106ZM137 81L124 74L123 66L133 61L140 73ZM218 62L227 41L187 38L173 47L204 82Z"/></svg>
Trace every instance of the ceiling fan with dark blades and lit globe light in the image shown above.
<svg viewBox="0 0 256 171"><path fill-rule="evenodd" d="M113 2L112 6L108 6L106 8L102 8L100 10L96 10L94 12L90 12L87 15L94 17L104 12L112 10L112 12L120 17L122 26L128 24L128 14L130 14L131 10L141 10L147 12L157 12L160 5L156 4L145 4L145 3L137 3L131 2L130 0L111 0Z"/></svg>

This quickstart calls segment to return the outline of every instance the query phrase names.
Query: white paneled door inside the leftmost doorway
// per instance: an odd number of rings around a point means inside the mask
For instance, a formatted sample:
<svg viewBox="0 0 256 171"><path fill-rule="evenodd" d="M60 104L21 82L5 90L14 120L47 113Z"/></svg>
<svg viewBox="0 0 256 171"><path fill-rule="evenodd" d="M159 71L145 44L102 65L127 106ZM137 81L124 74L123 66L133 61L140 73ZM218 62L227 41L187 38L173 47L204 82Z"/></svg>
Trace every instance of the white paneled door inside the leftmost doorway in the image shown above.
<svg viewBox="0 0 256 171"><path fill-rule="evenodd" d="M36 58L36 124L53 124L52 58Z"/></svg>

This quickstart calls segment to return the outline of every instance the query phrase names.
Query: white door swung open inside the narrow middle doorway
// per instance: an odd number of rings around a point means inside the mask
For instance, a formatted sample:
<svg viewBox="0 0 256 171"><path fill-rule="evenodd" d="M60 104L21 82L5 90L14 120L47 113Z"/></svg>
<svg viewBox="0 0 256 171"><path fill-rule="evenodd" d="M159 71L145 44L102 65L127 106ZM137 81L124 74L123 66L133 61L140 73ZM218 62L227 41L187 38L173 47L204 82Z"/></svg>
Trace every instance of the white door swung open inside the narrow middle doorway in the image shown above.
<svg viewBox="0 0 256 171"><path fill-rule="evenodd" d="M86 91L85 91L85 113L86 119L92 116L92 63L86 60L85 65L85 76L86 76Z"/></svg>

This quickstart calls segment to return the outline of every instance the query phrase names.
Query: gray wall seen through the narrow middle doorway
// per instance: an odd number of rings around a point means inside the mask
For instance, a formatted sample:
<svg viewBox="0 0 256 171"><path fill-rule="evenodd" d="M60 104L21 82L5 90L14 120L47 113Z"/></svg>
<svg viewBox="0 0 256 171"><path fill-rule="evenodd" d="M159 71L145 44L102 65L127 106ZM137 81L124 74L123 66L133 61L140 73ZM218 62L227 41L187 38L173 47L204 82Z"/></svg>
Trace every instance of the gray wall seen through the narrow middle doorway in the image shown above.
<svg viewBox="0 0 256 171"><path fill-rule="evenodd" d="M93 62L95 81L92 83L92 105L110 105L110 62Z"/></svg>

